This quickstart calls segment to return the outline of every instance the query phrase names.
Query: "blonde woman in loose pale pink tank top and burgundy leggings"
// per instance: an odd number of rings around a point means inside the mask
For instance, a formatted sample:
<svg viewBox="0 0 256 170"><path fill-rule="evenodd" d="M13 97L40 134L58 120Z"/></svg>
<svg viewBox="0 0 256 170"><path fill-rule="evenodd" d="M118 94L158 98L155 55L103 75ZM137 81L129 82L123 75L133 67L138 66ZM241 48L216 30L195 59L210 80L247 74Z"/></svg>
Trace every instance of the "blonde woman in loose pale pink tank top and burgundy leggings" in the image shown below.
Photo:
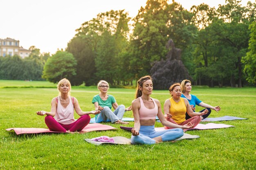
<svg viewBox="0 0 256 170"><path fill-rule="evenodd" d="M74 131L82 131L89 124L89 114L99 114L100 111L82 111L78 100L70 96L71 84L66 78L58 82L57 89L59 96L52 99L52 109L50 112L37 111L40 116L45 117L45 124L50 131L73 133ZM81 116L74 119L74 109Z"/></svg>

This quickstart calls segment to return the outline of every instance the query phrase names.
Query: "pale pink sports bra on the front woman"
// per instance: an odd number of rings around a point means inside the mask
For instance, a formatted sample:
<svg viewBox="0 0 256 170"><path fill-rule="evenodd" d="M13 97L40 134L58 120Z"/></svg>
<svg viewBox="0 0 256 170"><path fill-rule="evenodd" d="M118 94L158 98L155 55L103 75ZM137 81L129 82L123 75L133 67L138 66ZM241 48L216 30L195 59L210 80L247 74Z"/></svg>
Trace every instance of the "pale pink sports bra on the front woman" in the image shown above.
<svg viewBox="0 0 256 170"><path fill-rule="evenodd" d="M139 97L140 101L140 109L139 109L139 120L145 120L145 119L155 119L158 113L158 107L155 103L155 100L151 98L154 102L155 108L154 109L148 109L145 107L144 102L141 97Z"/></svg>

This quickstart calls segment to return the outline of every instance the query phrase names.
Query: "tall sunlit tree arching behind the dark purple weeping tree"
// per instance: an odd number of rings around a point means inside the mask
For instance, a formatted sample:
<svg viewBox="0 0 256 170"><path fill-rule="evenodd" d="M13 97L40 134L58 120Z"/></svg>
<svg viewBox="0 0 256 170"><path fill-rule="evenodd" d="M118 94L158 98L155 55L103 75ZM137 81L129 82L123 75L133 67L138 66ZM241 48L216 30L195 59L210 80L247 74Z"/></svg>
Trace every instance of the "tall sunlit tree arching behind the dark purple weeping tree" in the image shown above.
<svg viewBox="0 0 256 170"><path fill-rule="evenodd" d="M131 70L135 78L150 73L155 61L164 59L168 50L168 39L173 39L182 50L182 61L193 72L191 64L193 35L197 31L191 24L192 14L182 6L168 0L148 0L134 19L134 33L131 39Z"/></svg>

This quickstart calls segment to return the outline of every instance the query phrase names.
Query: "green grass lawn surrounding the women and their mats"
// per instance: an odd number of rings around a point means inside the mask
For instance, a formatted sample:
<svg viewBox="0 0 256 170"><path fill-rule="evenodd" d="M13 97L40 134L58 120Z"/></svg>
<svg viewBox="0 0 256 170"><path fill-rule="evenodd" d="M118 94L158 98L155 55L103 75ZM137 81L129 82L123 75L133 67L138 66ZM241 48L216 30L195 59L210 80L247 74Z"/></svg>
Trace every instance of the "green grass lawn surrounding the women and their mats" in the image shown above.
<svg viewBox="0 0 256 170"><path fill-rule="evenodd" d="M24 83L17 83L24 87ZM34 86L43 86L34 82ZM45 83L46 87L55 86ZM5 84L5 85L4 85ZM7 84L7 85L6 85ZM13 83L14 86L15 83ZM0 81L0 87L7 87ZM28 85L31 86L31 85ZM73 88L72 96L81 109L94 109L92 97L96 88ZM50 102L58 95L56 88L0 88L0 169L256 169L256 88L194 88L193 94L222 110L210 117L237 116L248 120L215 123L233 128L188 131L200 138L157 145L94 146L85 138L101 135L124 136L131 133L118 129L85 134L16 135L5 131L11 127L47 128L38 110L50 110ZM119 104L128 107L134 99L134 89L110 89ZM167 90L154 91L153 98L164 101ZM197 110L202 108L197 107ZM126 112L124 117L132 117ZM75 118L78 118L76 115ZM119 125L105 123L116 128ZM133 126L131 122L128 126ZM162 124L156 123L160 127Z"/></svg>

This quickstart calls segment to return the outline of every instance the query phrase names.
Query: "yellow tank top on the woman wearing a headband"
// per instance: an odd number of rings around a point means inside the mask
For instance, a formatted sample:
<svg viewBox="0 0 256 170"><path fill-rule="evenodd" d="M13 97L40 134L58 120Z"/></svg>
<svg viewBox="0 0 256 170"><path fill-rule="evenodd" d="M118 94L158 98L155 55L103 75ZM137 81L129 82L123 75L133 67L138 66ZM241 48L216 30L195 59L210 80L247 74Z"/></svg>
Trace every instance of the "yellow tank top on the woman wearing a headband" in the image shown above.
<svg viewBox="0 0 256 170"><path fill-rule="evenodd" d="M172 115L172 119L177 124L184 122L186 120L186 104L184 102L184 98L180 98L179 102L175 102L173 98L170 98L170 102L170 113Z"/></svg>

